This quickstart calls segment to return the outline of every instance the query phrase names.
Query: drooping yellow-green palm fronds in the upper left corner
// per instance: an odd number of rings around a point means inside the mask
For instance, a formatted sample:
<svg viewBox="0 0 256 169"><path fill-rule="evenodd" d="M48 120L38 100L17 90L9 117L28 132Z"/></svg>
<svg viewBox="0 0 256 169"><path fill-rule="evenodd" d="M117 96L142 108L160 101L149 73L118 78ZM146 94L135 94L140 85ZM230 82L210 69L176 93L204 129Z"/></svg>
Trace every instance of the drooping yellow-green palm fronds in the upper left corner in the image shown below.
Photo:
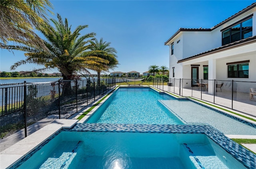
<svg viewBox="0 0 256 169"><path fill-rule="evenodd" d="M13 41L47 50L34 28L42 28L42 23L48 22L48 8L52 8L50 0L0 0L0 48Z"/></svg>

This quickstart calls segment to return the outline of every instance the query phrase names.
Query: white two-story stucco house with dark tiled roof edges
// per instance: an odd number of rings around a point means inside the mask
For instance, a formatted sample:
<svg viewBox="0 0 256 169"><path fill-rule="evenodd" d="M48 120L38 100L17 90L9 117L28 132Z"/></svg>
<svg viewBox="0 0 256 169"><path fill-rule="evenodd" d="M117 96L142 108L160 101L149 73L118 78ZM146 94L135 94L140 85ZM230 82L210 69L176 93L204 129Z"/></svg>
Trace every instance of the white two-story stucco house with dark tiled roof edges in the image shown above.
<svg viewBox="0 0 256 169"><path fill-rule="evenodd" d="M212 28L180 28L167 42L170 78L256 82L256 3ZM187 85L187 86L186 86ZM248 89L244 89L248 90Z"/></svg>

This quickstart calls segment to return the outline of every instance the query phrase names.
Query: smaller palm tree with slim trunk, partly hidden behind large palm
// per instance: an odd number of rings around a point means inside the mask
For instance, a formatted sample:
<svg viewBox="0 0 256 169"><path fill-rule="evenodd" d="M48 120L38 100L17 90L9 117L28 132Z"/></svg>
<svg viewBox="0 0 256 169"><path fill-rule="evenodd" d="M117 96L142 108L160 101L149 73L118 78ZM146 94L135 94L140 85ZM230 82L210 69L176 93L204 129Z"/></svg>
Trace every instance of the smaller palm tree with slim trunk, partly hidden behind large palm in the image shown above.
<svg viewBox="0 0 256 169"><path fill-rule="evenodd" d="M108 60L108 63L105 65L105 68L96 68L95 71L97 71L98 76L98 84L100 82L100 72L102 71L109 71L113 70L118 65L118 60L116 59L116 49L110 47L110 42L103 41L103 38L100 38L100 41L95 39L94 41L91 41L91 50L98 53L103 52L102 54L97 54L98 57Z"/></svg>

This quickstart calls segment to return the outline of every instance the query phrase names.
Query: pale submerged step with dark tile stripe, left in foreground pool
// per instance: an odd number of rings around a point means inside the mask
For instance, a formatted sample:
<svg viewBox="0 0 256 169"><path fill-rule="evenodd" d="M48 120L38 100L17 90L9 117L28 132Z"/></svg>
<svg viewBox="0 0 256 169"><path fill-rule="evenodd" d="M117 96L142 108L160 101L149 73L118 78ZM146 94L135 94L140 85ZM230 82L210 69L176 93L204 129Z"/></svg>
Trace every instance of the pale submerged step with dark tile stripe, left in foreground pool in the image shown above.
<svg viewBox="0 0 256 169"><path fill-rule="evenodd" d="M41 166L40 169L68 169L70 163L76 156L76 149L78 148L81 141L78 141L76 146L71 152L63 152L58 158L48 158Z"/></svg>

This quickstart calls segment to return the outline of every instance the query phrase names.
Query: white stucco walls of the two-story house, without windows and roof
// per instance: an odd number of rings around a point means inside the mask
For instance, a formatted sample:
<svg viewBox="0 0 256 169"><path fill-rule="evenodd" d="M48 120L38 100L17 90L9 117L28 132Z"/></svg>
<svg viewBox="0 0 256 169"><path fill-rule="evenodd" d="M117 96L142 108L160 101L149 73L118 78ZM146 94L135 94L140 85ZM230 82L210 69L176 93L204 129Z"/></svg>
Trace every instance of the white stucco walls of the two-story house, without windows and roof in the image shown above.
<svg viewBox="0 0 256 169"><path fill-rule="evenodd" d="M229 22L215 28L210 32L204 31L182 31L178 33L171 41L174 42L174 55L171 55L171 45L169 45L169 69L170 78L172 77L172 67L175 67L174 78L191 78L191 64L200 64L199 67L199 79L203 79L203 65L208 65L208 61L215 63L216 61L216 74L212 77L218 80L232 80L227 78L227 66L228 62L238 62L243 60L250 60L249 63L249 78L236 80L239 81L251 81L256 82L256 43L245 46L240 46L232 50L222 51L220 53L209 54L202 58L196 58L186 62L177 64L178 60L212 50L222 46L222 32L220 30L228 28L230 25L242 20L243 18L252 17L253 32L252 36L256 35L256 8L248 10L244 14L230 20ZM198 23L200 27L200 23ZM180 43L176 43L180 40ZM214 62L212 62L214 61ZM214 68L215 69L215 68ZM209 70L210 71L210 70ZM225 72L225 73L223 73Z"/></svg>

